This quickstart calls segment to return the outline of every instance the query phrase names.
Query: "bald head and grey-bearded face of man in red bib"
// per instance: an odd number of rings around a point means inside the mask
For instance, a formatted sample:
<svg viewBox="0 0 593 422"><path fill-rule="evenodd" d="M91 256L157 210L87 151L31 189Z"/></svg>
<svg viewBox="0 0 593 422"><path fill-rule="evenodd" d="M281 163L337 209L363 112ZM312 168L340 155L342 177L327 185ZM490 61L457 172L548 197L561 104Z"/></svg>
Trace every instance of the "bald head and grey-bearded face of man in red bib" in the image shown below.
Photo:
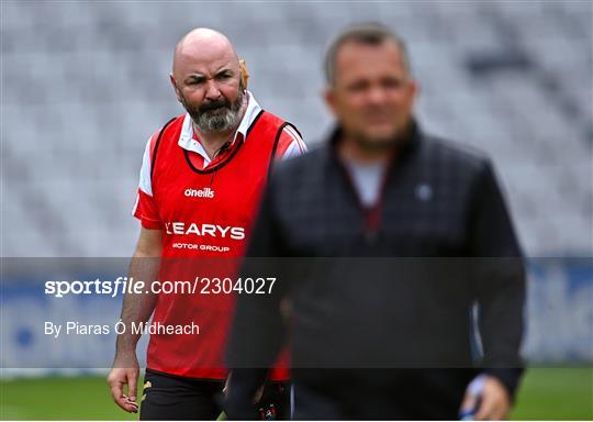
<svg viewBox="0 0 593 422"><path fill-rule="evenodd" d="M170 79L203 133L230 131L240 121L245 87L239 59L220 32L195 29L186 34L175 48Z"/></svg>

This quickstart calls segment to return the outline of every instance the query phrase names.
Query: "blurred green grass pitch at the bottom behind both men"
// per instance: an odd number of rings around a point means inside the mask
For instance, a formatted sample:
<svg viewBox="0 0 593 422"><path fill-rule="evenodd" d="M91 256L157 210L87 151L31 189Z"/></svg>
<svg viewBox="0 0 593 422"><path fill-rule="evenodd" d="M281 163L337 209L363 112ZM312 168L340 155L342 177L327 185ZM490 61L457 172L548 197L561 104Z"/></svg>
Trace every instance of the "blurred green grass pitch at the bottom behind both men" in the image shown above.
<svg viewBox="0 0 593 422"><path fill-rule="evenodd" d="M593 420L593 368L529 369L512 417ZM137 415L115 407L103 378L75 377L0 381L0 419L137 420Z"/></svg>

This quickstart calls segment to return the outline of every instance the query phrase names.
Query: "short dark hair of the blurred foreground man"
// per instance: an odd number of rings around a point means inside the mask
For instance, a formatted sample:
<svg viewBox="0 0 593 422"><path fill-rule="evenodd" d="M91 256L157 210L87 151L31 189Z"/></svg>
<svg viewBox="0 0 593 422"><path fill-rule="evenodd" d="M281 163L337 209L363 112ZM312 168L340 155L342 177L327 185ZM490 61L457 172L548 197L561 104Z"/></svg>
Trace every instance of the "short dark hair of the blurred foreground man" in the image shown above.
<svg viewBox="0 0 593 422"><path fill-rule="evenodd" d="M348 26L329 45L329 48L325 55L325 78L327 84L334 84L336 57L339 48L344 44L355 42L368 45L380 45L385 41L391 41L398 45L402 55L405 70L411 73L407 48L402 37L383 24L369 22Z"/></svg>

